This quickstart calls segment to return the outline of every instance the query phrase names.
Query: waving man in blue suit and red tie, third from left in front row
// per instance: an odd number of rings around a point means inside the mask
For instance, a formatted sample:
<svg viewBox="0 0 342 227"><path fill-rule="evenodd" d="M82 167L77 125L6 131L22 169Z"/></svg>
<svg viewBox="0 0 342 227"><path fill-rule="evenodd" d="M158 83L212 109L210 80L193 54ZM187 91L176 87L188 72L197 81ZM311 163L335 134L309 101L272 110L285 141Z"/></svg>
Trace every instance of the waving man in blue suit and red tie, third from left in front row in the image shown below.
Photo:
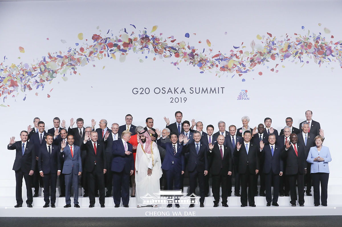
<svg viewBox="0 0 342 227"><path fill-rule="evenodd" d="M61 152L64 155L63 174L65 174L65 203L64 208L71 207L70 191L74 188L74 207L78 205L78 178L82 174L82 159L79 146L74 145L74 136L67 136L68 144L62 142Z"/></svg>

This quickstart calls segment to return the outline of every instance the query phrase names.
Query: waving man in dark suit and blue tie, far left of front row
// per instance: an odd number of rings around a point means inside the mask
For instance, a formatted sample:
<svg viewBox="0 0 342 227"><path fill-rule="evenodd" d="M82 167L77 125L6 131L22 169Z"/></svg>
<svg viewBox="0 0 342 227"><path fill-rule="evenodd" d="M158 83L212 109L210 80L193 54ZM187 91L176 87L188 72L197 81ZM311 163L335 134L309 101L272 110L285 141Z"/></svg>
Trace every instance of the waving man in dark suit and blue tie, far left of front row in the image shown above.
<svg viewBox="0 0 342 227"><path fill-rule="evenodd" d="M8 150L16 150L15 160L13 164L13 170L15 171L15 199L17 204L14 206L15 208L23 206L23 197L22 197L22 186L23 186L23 177L25 179L26 184L26 195L27 207L32 207L32 175L36 166L36 155L34 146L32 143L27 142L28 133L27 131L20 132L21 141L15 142L15 137L10 138L10 143L7 146Z"/></svg>

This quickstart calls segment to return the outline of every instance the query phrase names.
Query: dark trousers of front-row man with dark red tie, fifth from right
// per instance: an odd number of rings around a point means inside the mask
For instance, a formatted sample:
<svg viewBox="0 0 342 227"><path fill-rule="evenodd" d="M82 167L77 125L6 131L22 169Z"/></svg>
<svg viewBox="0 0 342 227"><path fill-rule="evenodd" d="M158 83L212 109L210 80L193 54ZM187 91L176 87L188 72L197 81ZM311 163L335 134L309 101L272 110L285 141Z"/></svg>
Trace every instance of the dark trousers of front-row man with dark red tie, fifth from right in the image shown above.
<svg viewBox="0 0 342 227"><path fill-rule="evenodd" d="M227 203L227 181L231 181L231 176L224 174L222 169L219 174L212 174L212 193L214 196L214 204L218 204L220 202L220 185L221 185L221 197L222 203Z"/></svg>

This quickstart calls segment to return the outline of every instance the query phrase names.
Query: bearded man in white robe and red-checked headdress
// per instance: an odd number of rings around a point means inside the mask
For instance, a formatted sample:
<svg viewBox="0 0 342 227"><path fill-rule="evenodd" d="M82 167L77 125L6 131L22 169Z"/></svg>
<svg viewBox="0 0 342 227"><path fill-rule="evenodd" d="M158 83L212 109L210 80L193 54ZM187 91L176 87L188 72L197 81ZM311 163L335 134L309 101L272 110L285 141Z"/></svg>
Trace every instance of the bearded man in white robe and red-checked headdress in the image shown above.
<svg viewBox="0 0 342 227"><path fill-rule="evenodd" d="M146 194L154 196L160 189L159 179L162 175L160 154L158 145L151 141L151 137L146 130L139 133L140 143L136 149L135 156L135 183L137 207L145 207L146 204L141 197Z"/></svg>

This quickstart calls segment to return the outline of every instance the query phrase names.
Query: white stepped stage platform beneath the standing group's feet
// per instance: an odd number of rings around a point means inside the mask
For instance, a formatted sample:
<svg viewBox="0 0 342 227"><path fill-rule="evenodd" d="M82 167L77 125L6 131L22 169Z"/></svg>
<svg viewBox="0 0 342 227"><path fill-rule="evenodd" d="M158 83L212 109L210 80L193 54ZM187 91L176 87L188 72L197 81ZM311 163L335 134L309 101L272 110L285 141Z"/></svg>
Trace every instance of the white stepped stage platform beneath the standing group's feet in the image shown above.
<svg viewBox="0 0 342 227"><path fill-rule="evenodd" d="M291 207L290 197L279 197L279 207L266 207L266 199L262 196L255 197L256 207L240 207L240 197L232 195L228 197L229 207L213 207L214 198L210 194L205 198L205 207L200 208L195 204L194 208L189 208L189 204L181 204L180 208L166 208L166 204L160 204L158 208L151 206L137 208L136 198L130 197L129 208L114 208L113 197L105 198L105 208L100 208L98 197L95 198L95 207L88 208L89 197L83 197L82 189L79 188L79 205L81 208L63 208L65 197L58 197L59 190L56 193L56 208L43 208L44 199L42 188L40 188L39 197L33 198L33 208L26 207L26 188L23 186L23 207L14 208L15 200L15 180L0 180L0 217L172 217L172 216L316 216L316 215L342 215L342 179L329 179L328 186L328 206L313 205L313 196L304 197L304 207ZM187 192L188 187L184 187ZM233 188L234 191L234 188ZM210 189L211 193L211 189ZM197 193L199 194L199 193ZM234 193L233 193L234 194ZM73 197L71 197L73 202Z"/></svg>

